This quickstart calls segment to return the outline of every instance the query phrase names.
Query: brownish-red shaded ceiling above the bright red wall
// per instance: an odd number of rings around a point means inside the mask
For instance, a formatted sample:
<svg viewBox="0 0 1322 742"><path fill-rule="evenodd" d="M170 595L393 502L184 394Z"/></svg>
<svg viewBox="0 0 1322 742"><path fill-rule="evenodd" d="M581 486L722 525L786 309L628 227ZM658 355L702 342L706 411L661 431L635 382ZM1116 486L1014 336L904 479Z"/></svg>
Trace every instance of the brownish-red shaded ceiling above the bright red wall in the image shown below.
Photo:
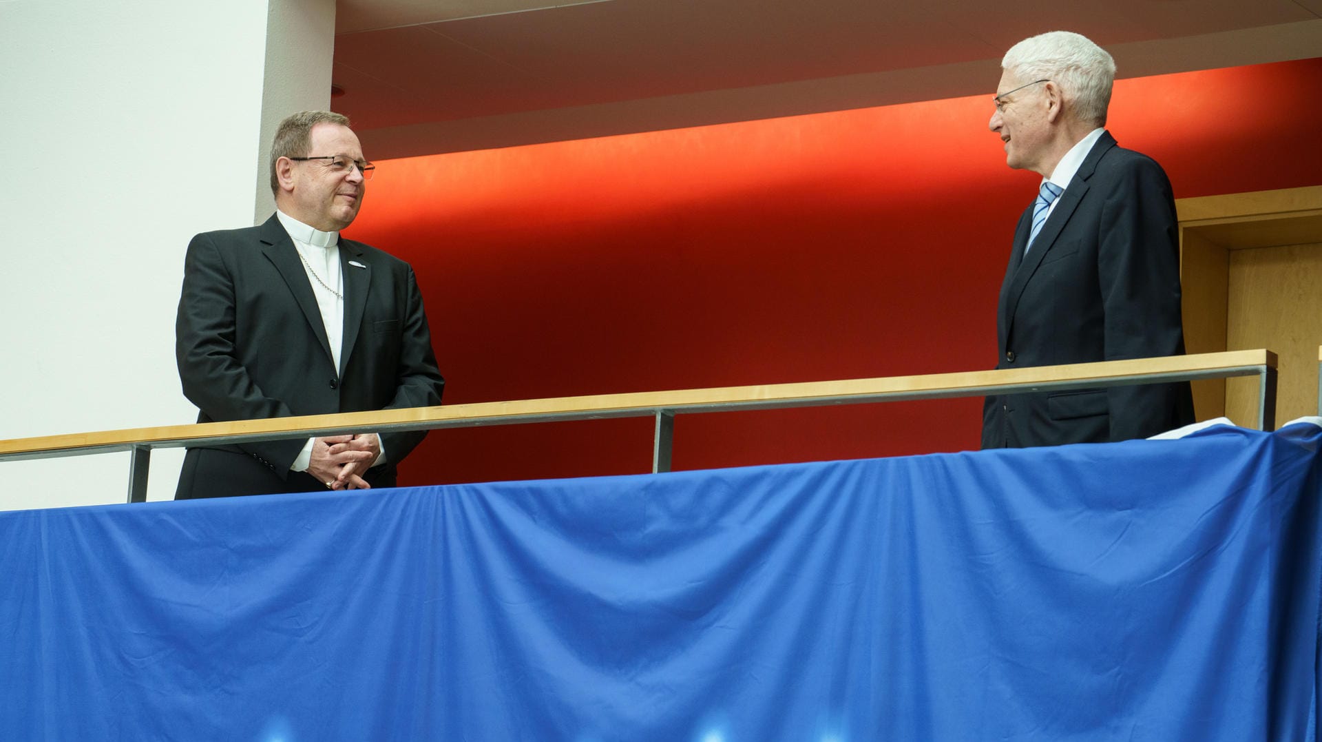
<svg viewBox="0 0 1322 742"><path fill-rule="evenodd" d="M375 159L990 95L1026 36L1120 77L1322 56L1322 0L337 0L336 111Z"/></svg>

